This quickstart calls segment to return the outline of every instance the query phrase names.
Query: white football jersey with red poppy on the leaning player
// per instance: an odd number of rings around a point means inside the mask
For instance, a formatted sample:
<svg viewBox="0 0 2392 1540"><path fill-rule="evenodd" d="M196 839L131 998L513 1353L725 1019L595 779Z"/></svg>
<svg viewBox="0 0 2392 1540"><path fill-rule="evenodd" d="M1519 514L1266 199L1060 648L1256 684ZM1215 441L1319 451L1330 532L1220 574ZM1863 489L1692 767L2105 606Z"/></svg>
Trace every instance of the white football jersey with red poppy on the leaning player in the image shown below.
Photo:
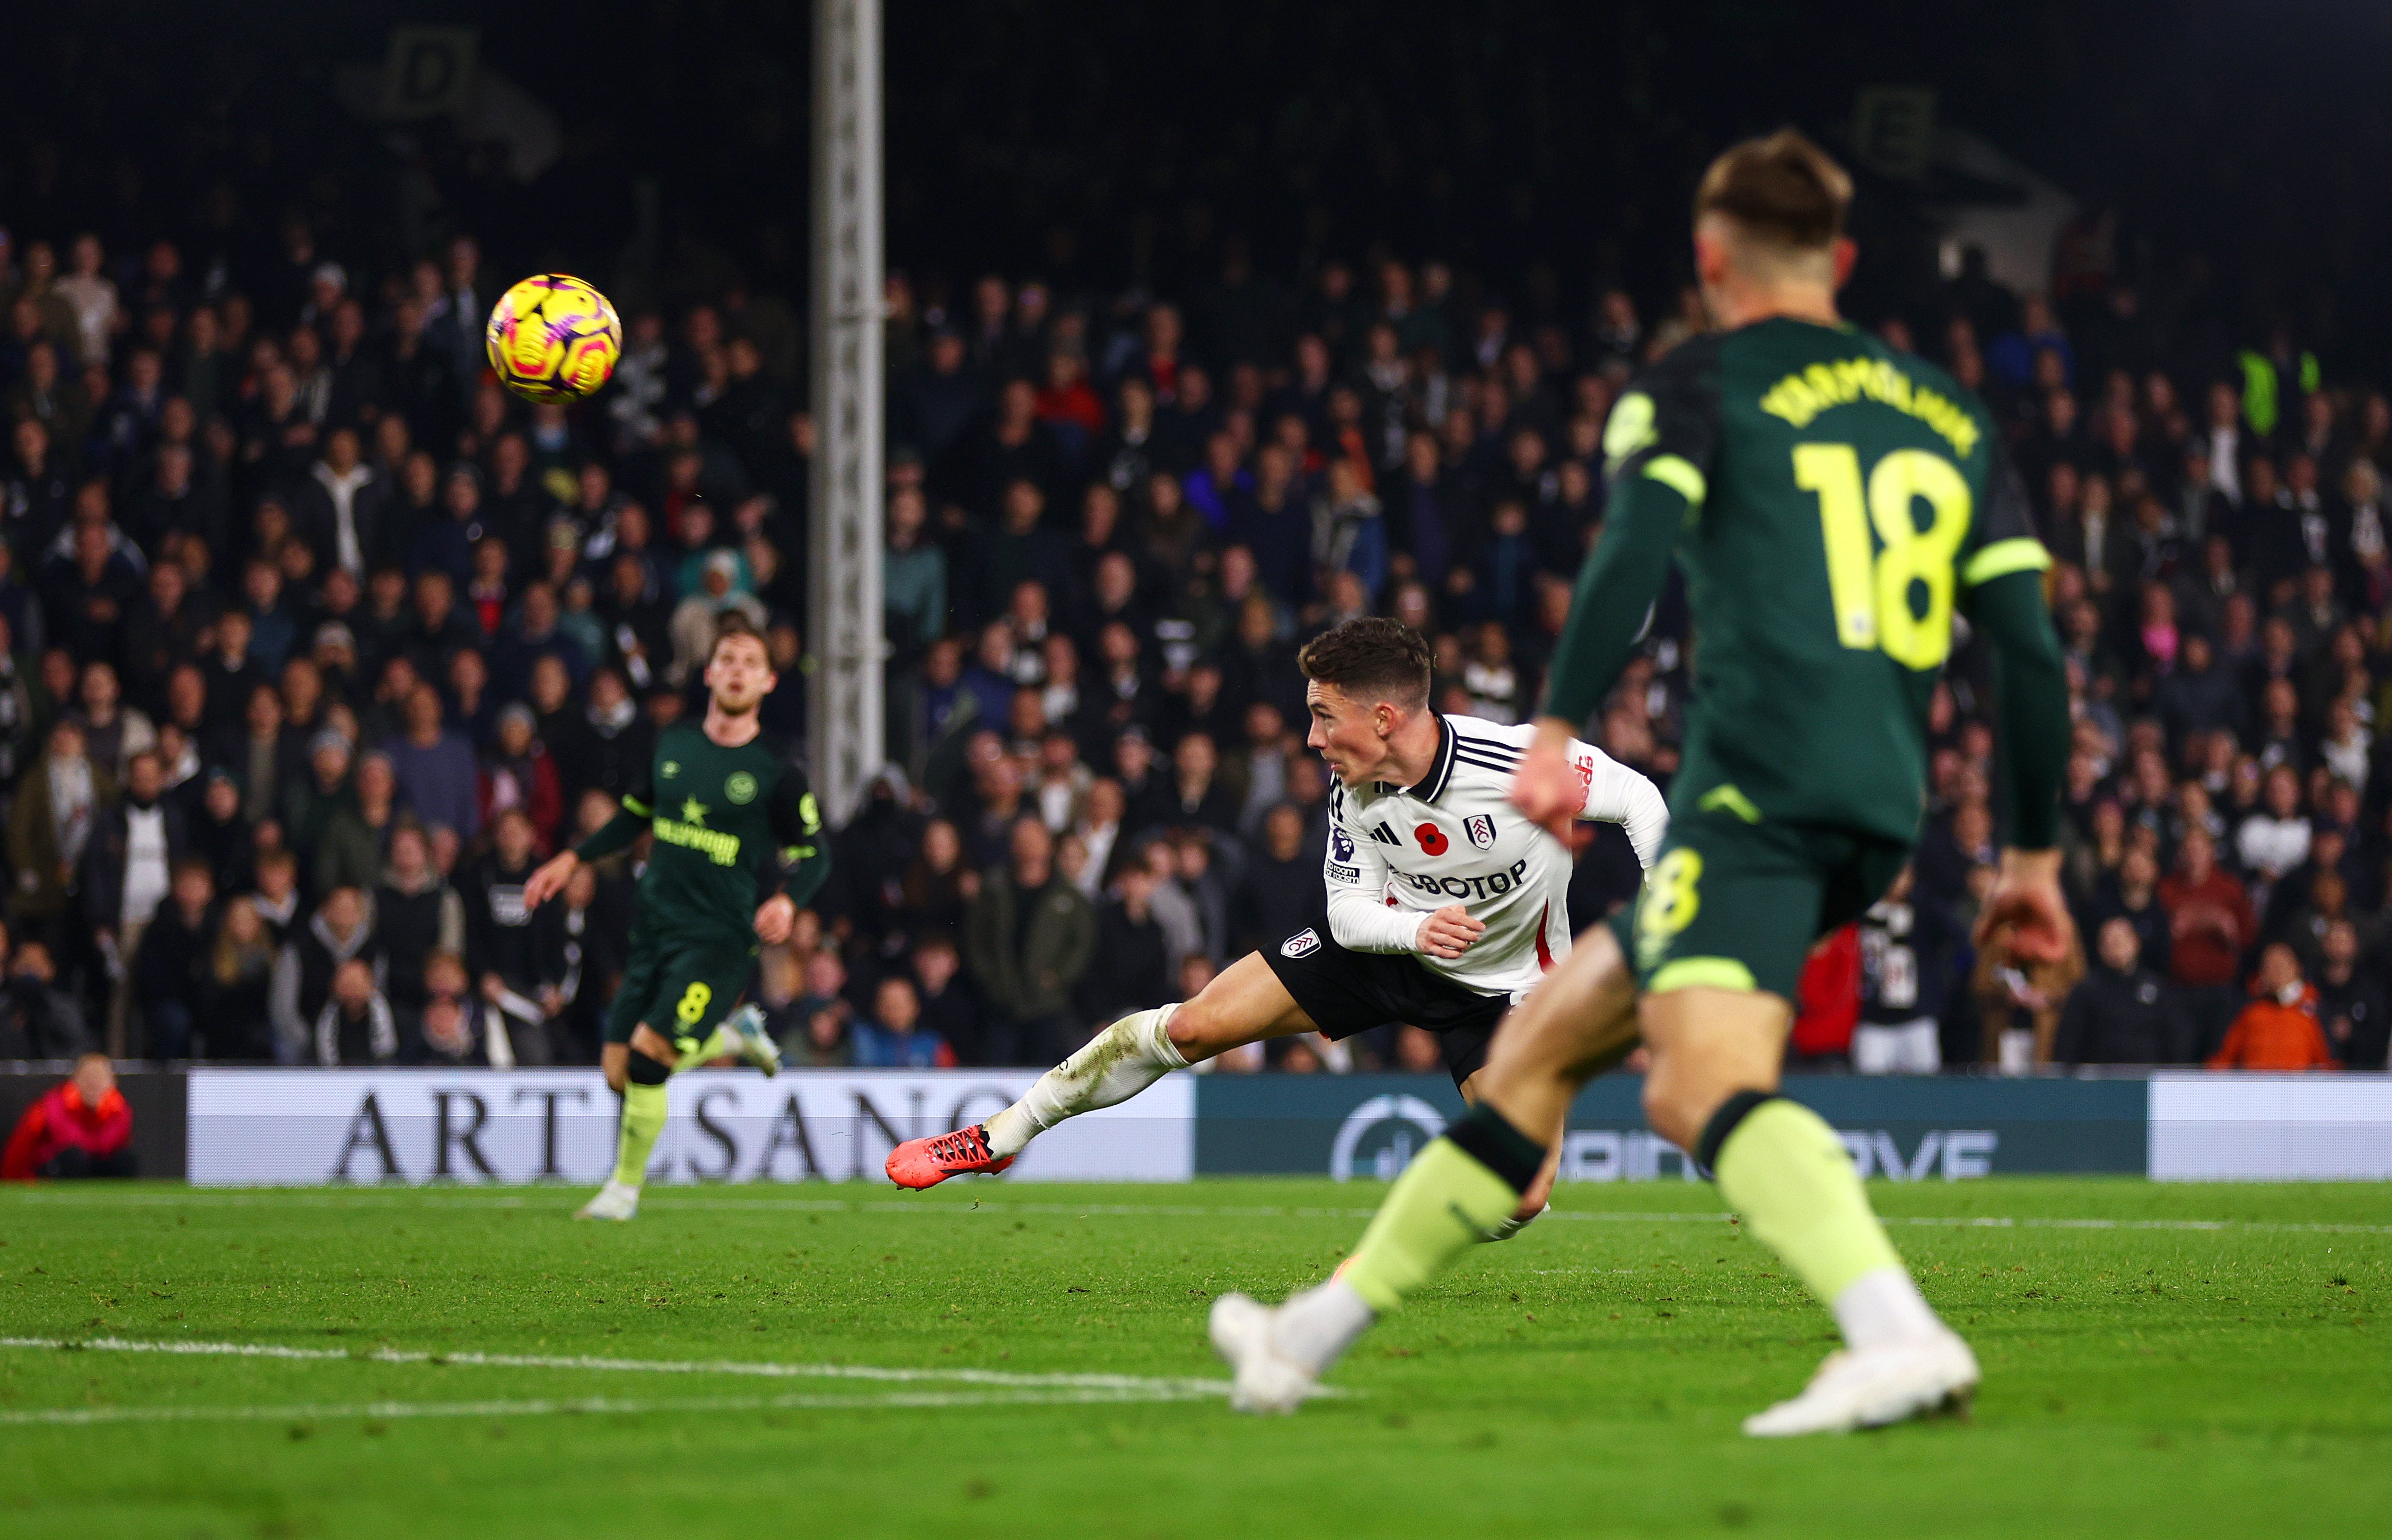
<svg viewBox="0 0 2392 1540"><path fill-rule="evenodd" d="M1330 933L1354 952L1414 952L1481 995L1519 1000L1569 954L1569 851L1512 806L1536 725L1438 717L1438 760L1414 787L1330 782ZM1670 827L1660 789L1572 739L1579 818L1627 827L1646 868ZM1462 904L1485 933L1454 959L1418 952L1421 916Z"/></svg>

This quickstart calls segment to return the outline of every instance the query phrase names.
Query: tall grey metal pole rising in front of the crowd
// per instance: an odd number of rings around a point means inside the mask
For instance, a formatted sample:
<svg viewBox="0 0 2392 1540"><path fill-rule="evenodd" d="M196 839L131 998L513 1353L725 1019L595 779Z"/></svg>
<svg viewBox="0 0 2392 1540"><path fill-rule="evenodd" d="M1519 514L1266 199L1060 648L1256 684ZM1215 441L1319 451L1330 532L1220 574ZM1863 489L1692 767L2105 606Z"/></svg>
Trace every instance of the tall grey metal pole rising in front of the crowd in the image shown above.
<svg viewBox="0 0 2392 1540"><path fill-rule="evenodd" d="M808 739L844 823L885 760L880 615L880 0L813 0Z"/></svg>

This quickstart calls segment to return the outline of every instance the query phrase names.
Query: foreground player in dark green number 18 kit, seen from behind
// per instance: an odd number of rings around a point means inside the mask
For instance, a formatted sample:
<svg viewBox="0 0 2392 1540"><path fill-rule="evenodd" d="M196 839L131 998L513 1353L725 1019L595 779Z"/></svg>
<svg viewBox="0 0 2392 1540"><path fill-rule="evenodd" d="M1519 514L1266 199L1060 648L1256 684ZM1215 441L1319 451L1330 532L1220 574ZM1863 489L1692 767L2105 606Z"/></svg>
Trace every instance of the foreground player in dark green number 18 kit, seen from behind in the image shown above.
<svg viewBox="0 0 2392 1540"><path fill-rule="evenodd" d="M2069 945L2050 557L1985 409L1837 318L1849 201L1842 167L1794 132L1703 175L1694 258L1717 330L1612 409L1603 538L1512 792L1548 825L1572 806L1562 746L1631 658L1674 557L1696 689L1670 837L1634 913L1505 1019L1473 1110L1411 1162L1340 1275L1280 1308L1215 1303L1237 1406L1292 1411L1378 1315L1509 1217L1579 1086L1639 1031L1653 1129L1717 1177L1844 1332L1808 1389L1744 1430L1894 1423L1976 1389L1973 1353L1918 1294L1835 1131L1777 1095L1804 952L1885 892L1918 835L1954 612L1995 653L2012 803L1978 935L2004 928L2021 959Z"/></svg>

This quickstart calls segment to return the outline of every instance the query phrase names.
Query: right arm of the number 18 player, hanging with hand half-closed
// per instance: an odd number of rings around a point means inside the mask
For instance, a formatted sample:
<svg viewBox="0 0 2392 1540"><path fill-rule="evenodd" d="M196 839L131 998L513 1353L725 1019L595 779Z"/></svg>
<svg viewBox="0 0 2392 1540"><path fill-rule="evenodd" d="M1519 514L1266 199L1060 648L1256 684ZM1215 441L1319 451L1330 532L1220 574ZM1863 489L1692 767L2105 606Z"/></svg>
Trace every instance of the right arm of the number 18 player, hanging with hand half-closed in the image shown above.
<svg viewBox="0 0 2392 1540"><path fill-rule="evenodd" d="M2067 902L2060 894L2060 787L2069 760L2069 674L2043 603L2052 557L2033 533L2026 495L1995 442L1981 538L1961 557L1959 583L1969 622L1993 648L1997 787L2009 830L2002 870L1978 913L1978 945L2012 925L2009 949L2028 961L2069 952Z"/></svg>

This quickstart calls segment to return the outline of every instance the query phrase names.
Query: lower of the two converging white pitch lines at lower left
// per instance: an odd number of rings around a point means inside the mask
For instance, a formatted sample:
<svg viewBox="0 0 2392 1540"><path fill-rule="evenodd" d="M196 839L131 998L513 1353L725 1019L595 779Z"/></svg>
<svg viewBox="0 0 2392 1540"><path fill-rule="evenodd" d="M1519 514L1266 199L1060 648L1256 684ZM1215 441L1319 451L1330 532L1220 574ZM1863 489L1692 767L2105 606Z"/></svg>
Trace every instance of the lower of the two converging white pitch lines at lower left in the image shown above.
<svg viewBox="0 0 2392 1540"><path fill-rule="evenodd" d="M1203 1382L1189 1382L1203 1385ZM1227 1389L1227 1382L1220 1385ZM509 1418L557 1413L653 1413L653 1411L916 1411L945 1406L1096 1406L1139 1401L1198 1401L1215 1392L1172 1389L1155 1380L1129 1389L895 1389L880 1397L684 1397L634 1401L572 1397L543 1401L354 1401L335 1406L48 1406L0 1411L0 1428L91 1423L309 1423L332 1418Z"/></svg>

